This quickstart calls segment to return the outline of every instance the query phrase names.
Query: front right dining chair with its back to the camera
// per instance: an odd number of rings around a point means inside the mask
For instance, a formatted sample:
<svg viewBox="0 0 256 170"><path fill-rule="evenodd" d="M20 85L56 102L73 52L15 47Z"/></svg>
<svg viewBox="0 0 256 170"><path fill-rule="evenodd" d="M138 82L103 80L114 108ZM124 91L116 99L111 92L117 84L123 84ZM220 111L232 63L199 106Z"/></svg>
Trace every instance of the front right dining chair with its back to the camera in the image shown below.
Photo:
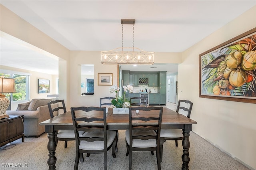
<svg viewBox="0 0 256 170"><path fill-rule="evenodd" d="M136 110L139 110L139 113L136 113ZM154 150L156 150L158 170L161 169L160 132L162 114L163 107L139 106L129 108L129 130L125 132L129 170L132 169L132 151L151 151L151 154L154 155ZM146 125L138 124L141 121L146 122Z"/></svg>

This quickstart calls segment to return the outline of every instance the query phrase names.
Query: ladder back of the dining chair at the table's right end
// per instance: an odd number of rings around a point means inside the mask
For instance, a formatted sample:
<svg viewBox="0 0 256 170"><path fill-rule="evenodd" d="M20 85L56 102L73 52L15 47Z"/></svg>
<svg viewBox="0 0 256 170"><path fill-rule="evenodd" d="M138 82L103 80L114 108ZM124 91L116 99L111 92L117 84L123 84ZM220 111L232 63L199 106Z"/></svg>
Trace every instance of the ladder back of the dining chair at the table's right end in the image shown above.
<svg viewBox="0 0 256 170"><path fill-rule="evenodd" d="M193 103L189 100L179 100L176 112L190 118L192 106Z"/></svg>

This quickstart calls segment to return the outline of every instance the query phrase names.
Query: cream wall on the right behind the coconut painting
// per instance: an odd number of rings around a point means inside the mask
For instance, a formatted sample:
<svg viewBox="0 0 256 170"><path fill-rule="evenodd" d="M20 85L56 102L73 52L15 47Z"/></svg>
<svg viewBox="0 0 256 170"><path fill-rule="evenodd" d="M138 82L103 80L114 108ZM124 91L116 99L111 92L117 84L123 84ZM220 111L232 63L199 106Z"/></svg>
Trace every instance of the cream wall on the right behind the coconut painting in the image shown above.
<svg viewBox="0 0 256 170"><path fill-rule="evenodd" d="M251 169L256 169L256 104L199 98L198 82L199 54L255 28L255 16L256 6L184 51L178 68L178 98L194 103L193 131Z"/></svg>

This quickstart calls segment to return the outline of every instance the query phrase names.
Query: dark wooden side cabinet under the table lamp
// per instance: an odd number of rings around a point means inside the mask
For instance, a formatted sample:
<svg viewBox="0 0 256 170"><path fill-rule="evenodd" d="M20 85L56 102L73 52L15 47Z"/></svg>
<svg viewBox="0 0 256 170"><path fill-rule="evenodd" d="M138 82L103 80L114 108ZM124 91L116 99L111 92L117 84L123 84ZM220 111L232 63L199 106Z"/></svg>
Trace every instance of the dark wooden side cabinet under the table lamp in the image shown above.
<svg viewBox="0 0 256 170"><path fill-rule="evenodd" d="M9 118L0 120L0 147L22 138L24 142L23 115L9 115Z"/></svg>

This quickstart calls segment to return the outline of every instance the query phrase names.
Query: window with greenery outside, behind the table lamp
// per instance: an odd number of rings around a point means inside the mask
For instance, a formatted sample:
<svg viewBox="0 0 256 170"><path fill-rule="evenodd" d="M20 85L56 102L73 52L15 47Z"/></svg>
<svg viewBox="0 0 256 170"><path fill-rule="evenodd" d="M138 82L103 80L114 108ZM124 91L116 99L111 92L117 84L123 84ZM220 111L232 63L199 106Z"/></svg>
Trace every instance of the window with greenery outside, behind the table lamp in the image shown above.
<svg viewBox="0 0 256 170"><path fill-rule="evenodd" d="M15 89L17 93L5 93L12 101L29 100L29 75L0 73L5 78L15 79Z"/></svg>

